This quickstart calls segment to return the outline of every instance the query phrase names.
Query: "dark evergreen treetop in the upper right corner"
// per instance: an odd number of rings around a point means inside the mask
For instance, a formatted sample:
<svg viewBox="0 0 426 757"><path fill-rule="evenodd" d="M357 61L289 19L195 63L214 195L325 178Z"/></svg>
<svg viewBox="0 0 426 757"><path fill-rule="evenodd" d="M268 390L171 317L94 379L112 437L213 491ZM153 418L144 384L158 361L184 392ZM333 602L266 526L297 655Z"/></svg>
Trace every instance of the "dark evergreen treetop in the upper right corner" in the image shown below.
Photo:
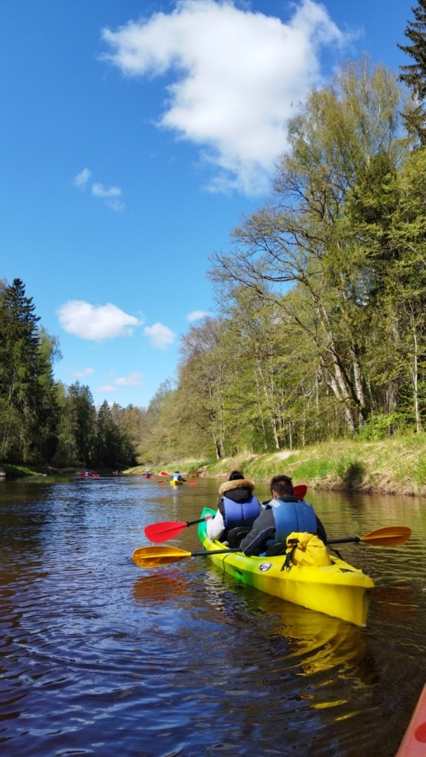
<svg viewBox="0 0 426 757"><path fill-rule="evenodd" d="M426 145L426 0L418 0L412 8L415 20L409 21L404 35L411 45L398 45L415 63L401 66L400 81L412 90L415 107L405 114L406 129L421 145Z"/></svg>

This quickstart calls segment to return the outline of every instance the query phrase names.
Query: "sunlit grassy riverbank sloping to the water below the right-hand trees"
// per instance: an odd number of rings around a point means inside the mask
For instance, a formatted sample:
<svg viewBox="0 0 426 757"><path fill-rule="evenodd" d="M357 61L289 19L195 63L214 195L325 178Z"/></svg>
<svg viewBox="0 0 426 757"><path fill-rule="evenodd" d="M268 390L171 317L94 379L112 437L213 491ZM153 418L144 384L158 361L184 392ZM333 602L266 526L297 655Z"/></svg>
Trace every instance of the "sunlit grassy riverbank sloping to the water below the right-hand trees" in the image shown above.
<svg viewBox="0 0 426 757"><path fill-rule="evenodd" d="M225 478L233 469L255 481L277 473L310 488L426 496L426 434L392 436L382 441L327 441L301 450L266 455L250 452L215 462L175 460L153 472L180 470L182 475ZM141 466L127 472L143 470Z"/></svg>

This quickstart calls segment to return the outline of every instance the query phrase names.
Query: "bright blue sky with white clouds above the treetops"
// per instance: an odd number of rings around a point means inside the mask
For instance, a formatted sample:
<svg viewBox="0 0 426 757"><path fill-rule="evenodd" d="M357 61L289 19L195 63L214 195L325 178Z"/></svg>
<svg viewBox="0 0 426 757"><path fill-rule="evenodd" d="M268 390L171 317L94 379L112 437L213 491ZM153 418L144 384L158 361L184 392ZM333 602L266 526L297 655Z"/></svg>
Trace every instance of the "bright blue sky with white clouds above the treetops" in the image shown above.
<svg viewBox="0 0 426 757"><path fill-rule="evenodd" d="M291 102L364 50L397 69L411 5L2 0L0 278L59 336L57 378L146 405L175 375Z"/></svg>

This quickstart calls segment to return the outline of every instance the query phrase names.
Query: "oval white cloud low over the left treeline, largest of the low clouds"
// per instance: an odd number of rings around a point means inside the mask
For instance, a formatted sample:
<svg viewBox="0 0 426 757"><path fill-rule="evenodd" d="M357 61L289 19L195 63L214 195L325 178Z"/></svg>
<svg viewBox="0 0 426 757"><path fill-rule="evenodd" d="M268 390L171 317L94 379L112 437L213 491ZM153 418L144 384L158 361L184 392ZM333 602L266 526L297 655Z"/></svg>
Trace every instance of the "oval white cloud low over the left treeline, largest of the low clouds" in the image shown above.
<svg viewBox="0 0 426 757"><path fill-rule="evenodd" d="M129 316L120 307L108 303L95 307L81 300L70 300L58 310L62 328L82 339L112 339L129 336L139 325L135 316Z"/></svg>

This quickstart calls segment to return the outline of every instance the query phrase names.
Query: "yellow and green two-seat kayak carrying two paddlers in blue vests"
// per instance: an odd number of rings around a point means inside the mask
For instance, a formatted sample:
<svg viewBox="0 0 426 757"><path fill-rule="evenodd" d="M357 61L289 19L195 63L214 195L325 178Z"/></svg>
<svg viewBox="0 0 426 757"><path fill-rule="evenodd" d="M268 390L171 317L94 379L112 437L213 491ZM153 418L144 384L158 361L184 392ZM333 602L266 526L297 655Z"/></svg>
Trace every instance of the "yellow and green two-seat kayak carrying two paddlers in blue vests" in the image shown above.
<svg viewBox="0 0 426 757"><path fill-rule="evenodd" d="M204 507L201 517L215 510ZM207 524L198 525L198 536L204 550L220 550L223 544L206 533ZM330 555L331 565L322 567L292 565L281 570L285 557L247 557L242 552L212 555L210 559L225 573L244 584L280 597L294 605L324 612L354 625L367 623L368 603L375 584L368 575L344 560Z"/></svg>

